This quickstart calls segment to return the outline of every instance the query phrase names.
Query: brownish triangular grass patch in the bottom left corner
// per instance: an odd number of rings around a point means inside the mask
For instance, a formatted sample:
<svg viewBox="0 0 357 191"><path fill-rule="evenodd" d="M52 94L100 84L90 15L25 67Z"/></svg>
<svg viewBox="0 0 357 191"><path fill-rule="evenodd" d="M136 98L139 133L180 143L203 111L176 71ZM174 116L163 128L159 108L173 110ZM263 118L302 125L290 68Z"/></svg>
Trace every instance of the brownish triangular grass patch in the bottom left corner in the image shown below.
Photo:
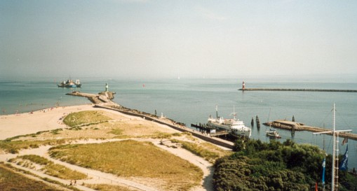
<svg viewBox="0 0 357 191"><path fill-rule="evenodd" d="M0 188L1 191L10 191L10 190L56 191L58 190L57 188L47 185L46 183L43 183L41 181L34 181L21 174L15 173L15 171L4 166L4 164L0 164Z"/></svg>

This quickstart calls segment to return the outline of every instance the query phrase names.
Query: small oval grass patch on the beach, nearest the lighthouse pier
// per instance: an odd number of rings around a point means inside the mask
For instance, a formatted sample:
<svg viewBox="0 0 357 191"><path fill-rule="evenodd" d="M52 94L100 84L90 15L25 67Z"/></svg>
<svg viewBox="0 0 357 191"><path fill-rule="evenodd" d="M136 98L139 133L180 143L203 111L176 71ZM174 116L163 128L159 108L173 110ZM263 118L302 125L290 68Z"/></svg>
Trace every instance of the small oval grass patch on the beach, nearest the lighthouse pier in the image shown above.
<svg viewBox="0 0 357 191"><path fill-rule="evenodd" d="M103 115L101 111L80 111L70 113L63 122L69 127L75 127L79 125L95 125L108 120L112 120L112 118Z"/></svg>

